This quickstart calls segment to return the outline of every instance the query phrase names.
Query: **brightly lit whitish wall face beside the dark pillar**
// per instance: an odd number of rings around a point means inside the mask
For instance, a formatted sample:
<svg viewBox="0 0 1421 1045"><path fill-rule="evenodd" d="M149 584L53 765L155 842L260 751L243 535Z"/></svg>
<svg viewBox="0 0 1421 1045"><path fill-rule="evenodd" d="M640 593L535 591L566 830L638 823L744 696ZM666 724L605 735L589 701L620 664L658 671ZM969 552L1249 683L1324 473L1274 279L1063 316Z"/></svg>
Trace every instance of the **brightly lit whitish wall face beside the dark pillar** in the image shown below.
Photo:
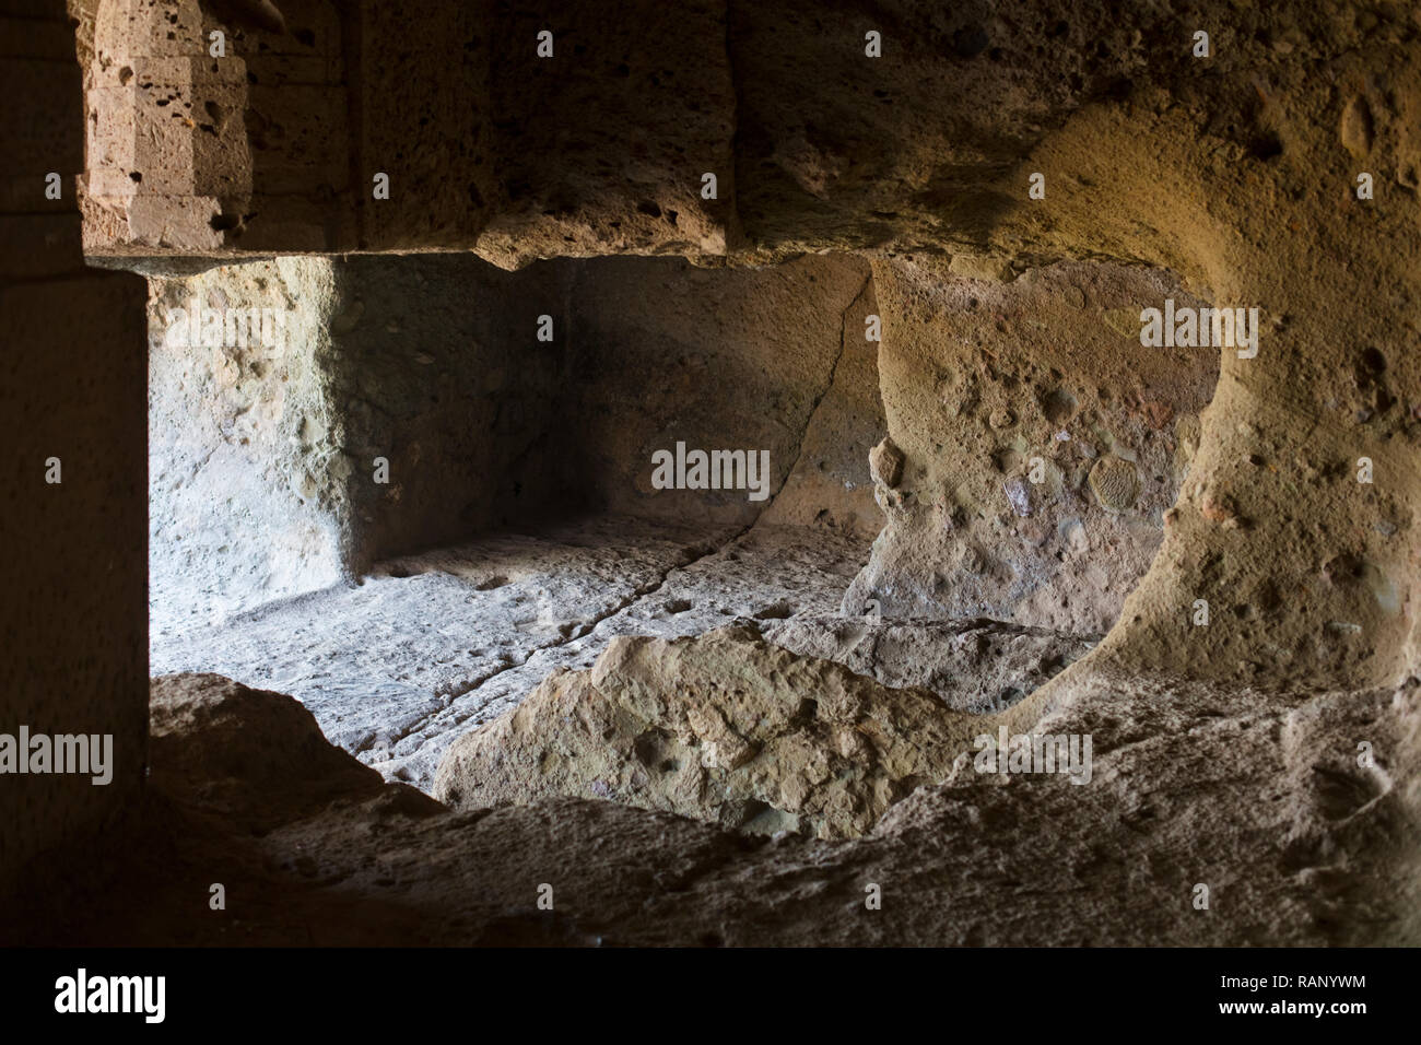
<svg viewBox="0 0 1421 1045"><path fill-rule="evenodd" d="M155 633L344 579L352 462L324 357L333 300L324 259L149 280Z"/></svg>

